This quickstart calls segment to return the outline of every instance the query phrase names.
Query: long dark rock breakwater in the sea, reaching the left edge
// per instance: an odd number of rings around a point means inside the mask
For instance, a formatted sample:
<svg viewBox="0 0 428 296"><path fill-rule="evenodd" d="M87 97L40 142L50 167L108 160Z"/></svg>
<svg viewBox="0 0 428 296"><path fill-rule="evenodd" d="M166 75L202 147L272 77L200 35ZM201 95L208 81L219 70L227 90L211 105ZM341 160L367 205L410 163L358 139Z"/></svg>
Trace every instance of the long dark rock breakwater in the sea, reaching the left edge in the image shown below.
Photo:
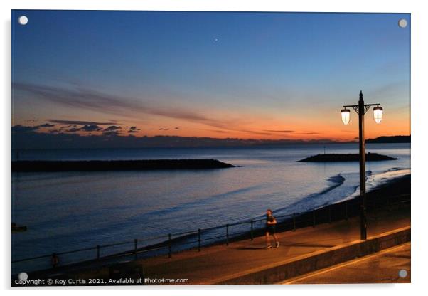
<svg viewBox="0 0 428 296"><path fill-rule="evenodd" d="M217 159L147 159L90 161L17 161L12 171L145 171L166 169L226 169L235 167Z"/></svg>

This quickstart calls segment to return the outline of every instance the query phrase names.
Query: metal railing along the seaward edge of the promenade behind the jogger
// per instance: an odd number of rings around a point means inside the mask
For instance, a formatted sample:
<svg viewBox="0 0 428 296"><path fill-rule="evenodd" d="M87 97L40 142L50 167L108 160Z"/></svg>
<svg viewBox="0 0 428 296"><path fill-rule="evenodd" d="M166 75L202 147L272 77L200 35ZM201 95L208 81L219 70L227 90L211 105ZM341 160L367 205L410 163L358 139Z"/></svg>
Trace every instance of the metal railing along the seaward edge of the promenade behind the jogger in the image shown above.
<svg viewBox="0 0 428 296"><path fill-rule="evenodd" d="M396 196L389 196L387 198L375 198L369 201L368 210L377 213L378 208L390 209L394 204L406 203L406 198L410 197L410 194L400 194ZM332 221L348 220L352 216L356 216L360 213L360 199L350 199L339 203L332 203L328 206L322 206L314 208L309 211L300 213L291 213L282 216L275 216L277 218L277 231L296 231L298 228L304 228L308 226L316 227L321 223L332 223ZM198 228L196 231L184 231L181 233L168 233L163 236L152 236L144 238L134 238L134 240L124 240L118 243L111 243L107 245L95 245L90 248L81 248L78 250L69 250L58 253L51 253L47 255L41 255L31 258L22 258L13 260L13 264L24 263L28 261L43 260L45 268L39 268L39 270L47 270L50 268L61 268L70 267L71 265L78 264L96 264L100 260L114 260L122 258L124 256L134 256L138 258L141 254L151 257L154 255L168 255L168 258L172 257L173 253L177 253L183 250L195 249L200 252L201 248L206 245L213 245L215 243L225 243L229 245L234 240L240 240L248 238L254 240L256 236L264 234L264 222L265 218L254 218L250 220L227 223L220 226L211 228ZM262 222L262 227L257 227L257 224ZM235 231L233 231L235 230ZM207 236L208 237L205 237ZM211 235L211 236L209 236ZM102 251L112 249L119 246L130 245L127 250L119 252L105 253L102 255ZM69 262L65 260L66 255L84 253L91 251L92 256L85 258L76 257ZM151 253L151 255L147 255ZM50 263L46 264L46 260L50 260ZM63 263L64 262L64 263ZM48 267L50 266L50 267ZM35 270L36 271L36 270Z"/></svg>

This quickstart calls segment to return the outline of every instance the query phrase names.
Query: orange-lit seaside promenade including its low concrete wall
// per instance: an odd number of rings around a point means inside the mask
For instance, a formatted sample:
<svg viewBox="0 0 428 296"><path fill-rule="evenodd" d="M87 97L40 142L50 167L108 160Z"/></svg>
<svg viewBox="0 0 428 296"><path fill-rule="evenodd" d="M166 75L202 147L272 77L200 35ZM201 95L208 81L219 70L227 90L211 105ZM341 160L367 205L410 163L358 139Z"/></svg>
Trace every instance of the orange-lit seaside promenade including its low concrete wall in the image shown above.
<svg viewBox="0 0 428 296"><path fill-rule="evenodd" d="M195 249L173 253L172 258L168 255L138 260L123 258L116 263L101 260L32 273L30 277L87 281L104 279L101 282L104 285L109 285L109 279L123 278L143 279L141 283L145 285L276 284L408 243L410 204L398 204L390 210L384 208L376 215L369 212L368 240L365 241L360 240L359 217L285 231L277 233L277 236L279 248L267 250L264 249L264 236L259 236L254 240L233 241L229 245L203 247L200 252ZM378 273L376 268L369 270L373 275ZM410 270L407 271L410 273ZM397 272L390 271L395 275ZM351 273L348 275L336 277L331 282L347 282L352 277ZM370 278L370 275L367 276Z"/></svg>

